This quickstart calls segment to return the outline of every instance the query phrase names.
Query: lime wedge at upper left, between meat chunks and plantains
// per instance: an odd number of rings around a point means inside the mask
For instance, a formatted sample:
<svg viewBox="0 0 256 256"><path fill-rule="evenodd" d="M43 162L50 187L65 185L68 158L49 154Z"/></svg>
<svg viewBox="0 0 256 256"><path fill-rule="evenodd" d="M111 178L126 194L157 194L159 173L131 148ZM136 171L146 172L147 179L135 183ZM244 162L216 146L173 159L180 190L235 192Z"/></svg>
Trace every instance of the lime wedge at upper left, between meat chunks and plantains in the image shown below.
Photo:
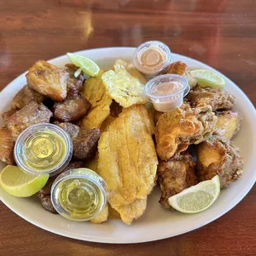
<svg viewBox="0 0 256 256"><path fill-rule="evenodd" d="M76 77L78 77L81 71L83 71L84 73L87 73L91 77L97 77L97 74L99 73L100 68L94 61L92 61L92 59L88 59L84 56L74 55L71 53L67 53L67 55L69 56L69 59L71 60L71 62L75 66L80 68L75 73Z"/></svg>

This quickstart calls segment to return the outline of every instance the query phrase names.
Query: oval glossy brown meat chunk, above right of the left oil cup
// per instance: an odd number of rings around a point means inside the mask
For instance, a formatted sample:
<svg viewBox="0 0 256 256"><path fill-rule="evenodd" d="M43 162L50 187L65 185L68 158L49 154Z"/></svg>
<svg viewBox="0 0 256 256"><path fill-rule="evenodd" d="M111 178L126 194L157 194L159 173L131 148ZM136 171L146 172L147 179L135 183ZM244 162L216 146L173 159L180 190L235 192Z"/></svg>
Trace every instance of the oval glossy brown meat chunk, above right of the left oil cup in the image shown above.
<svg viewBox="0 0 256 256"><path fill-rule="evenodd" d="M90 107L91 103L82 96L69 97L64 102L55 103L54 117L64 122L78 121L86 115Z"/></svg>

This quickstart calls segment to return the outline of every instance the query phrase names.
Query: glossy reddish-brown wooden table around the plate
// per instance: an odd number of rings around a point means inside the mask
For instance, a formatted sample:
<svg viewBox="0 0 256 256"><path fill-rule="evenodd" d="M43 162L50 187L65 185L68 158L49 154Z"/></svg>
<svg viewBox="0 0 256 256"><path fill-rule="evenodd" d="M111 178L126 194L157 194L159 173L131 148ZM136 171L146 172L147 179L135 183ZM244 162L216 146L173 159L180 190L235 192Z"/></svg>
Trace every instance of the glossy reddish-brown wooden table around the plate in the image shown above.
<svg viewBox="0 0 256 256"><path fill-rule="evenodd" d="M256 105L254 0L2 0L0 89L37 59L163 40L231 78ZM0 205L0 255L256 255L256 187L233 210L186 235L96 244L51 234Z"/></svg>

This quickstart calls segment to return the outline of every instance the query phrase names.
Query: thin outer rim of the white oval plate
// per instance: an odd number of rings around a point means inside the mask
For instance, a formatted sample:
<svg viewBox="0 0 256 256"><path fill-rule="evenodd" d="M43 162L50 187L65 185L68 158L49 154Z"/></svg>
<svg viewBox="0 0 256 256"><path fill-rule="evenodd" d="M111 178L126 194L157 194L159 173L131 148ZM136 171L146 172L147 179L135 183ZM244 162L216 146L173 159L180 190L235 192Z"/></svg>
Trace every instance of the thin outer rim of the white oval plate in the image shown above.
<svg viewBox="0 0 256 256"><path fill-rule="evenodd" d="M94 50L135 50L135 47L101 47L101 48L92 48L92 49L87 49L87 50L79 50L79 51L76 51L74 52L74 54L84 54L85 52L88 52L88 51L94 51ZM244 95L244 97L246 97L250 107L252 107L252 109L254 109L254 113L252 113L252 115L254 115L254 119L256 120L256 110L255 110L255 107L254 107L254 104L249 100L249 97L247 97L247 95L242 91L241 88L239 88L239 86L237 86L230 78L226 77L225 74L221 73L220 71L218 71L217 69L211 67L210 65L208 64L205 64L203 62L201 62L200 60L197 60L197 59L193 59L191 57L187 57L185 55L180 55L180 54L176 54L176 53L172 53L173 55L176 55L176 56L181 56L181 57L185 57L187 59L190 59L192 60L192 62L194 63L197 63L197 64L202 64L204 66L206 66L208 69L212 69L214 71L216 71L217 73L220 73L223 77L225 77L226 80L229 81L229 83L231 83L232 85L235 85L235 88L239 90L239 93L242 93ZM55 61L57 59L60 59L60 58L63 58L65 57L65 55L60 55L60 56L57 56L53 59L49 59L49 60L46 60L47 62L52 62L52 61ZM7 90L7 87L9 87L9 85L11 83L15 83L16 80L18 80L19 78L21 78L22 76L24 76L26 74L27 70L23 73L21 73L20 75L17 76L17 78L14 78L10 83L7 84L7 86L5 88L2 89L2 92L5 92L5 90ZM145 242L150 242L150 241L156 241L156 240L160 240L160 239L167 239L167 238L170 238L170 237L174 237L174 236L178 236L178 235L182 235L182 234L186 234L188 232L191 232L192 230L197 230L198 228L204 226L204 225L207 225L209 223L211 223L212 221L220 218L221 216L224 216L228 211L230 211L231 209L233 209L235 206L238 205L238 203L240 201L243 200L243 198L249 193L249 191L252 189L252 187L254 187L254 183L256 181L256 175L254 175L254 180L251 181L251 183L249 183L249 186L244 189L244 191L240 192L239 194L239 197L236 199L236 201L231 204L231 206L227 206L226 207L226 210L222 211L220 214L218 214L217 216L211 218L210 220L207 220L205 221L204 223L202 224L198 224L198 225L194 225L192 228L190 229L187 229L186 231L180 231L180 232L177 232L176 235L158 235L157 238L155 239L152 239L152 238L149 238L149 239L129 239L128 241L127 240L123 240L123 241L116 241L115 239L103 239L103 238L97 238L97 237L93 237L93 236L79 236L78 235L75 235L75 234L72 234L72 233L69 233L67 234L66 232L64 232L63 230L54 230L54 229L50 229L48 228L48 226L42 226L38 221L34 221L34 220L30 220L29 218L26 218L26 216L22 216L22 213L20 211L18 211L17 209L15 209L14 207L10 206L8 204L7 201L3 201L2 200L2 197L0 195L0 199L2 201L2 203L4 203L11 211L15 212L17 214L17 216L20 216L22 219L28 221L29 223L31 223L32 225L36 225L37 227L43 229L43 230L47 230L51 233L54 233L56 235L61 235L61 236L64 236L64 237L69 237L69 238L72 238L72 239L79 239L79 240L84 240L84 241L88 241L88 242L95 242L95 243L106 243L106 244L139 244L139 243L145 243Z"/></svg>

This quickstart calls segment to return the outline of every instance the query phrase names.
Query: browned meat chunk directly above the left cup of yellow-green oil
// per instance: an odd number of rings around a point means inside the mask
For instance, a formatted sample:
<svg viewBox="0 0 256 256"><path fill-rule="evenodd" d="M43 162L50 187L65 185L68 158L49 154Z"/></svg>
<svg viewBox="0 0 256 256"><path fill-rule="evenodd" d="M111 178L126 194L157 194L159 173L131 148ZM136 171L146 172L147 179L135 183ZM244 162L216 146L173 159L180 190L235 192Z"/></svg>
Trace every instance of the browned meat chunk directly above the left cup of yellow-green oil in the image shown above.
<svg viewBox="0 0 256 256"><path fill-rule="evenodd" d="M11 131L13 139L17 140L18 135L27 127L49 123L51 116L52 112L44 104L31 102L7 119L7 127Z"/></svg>

